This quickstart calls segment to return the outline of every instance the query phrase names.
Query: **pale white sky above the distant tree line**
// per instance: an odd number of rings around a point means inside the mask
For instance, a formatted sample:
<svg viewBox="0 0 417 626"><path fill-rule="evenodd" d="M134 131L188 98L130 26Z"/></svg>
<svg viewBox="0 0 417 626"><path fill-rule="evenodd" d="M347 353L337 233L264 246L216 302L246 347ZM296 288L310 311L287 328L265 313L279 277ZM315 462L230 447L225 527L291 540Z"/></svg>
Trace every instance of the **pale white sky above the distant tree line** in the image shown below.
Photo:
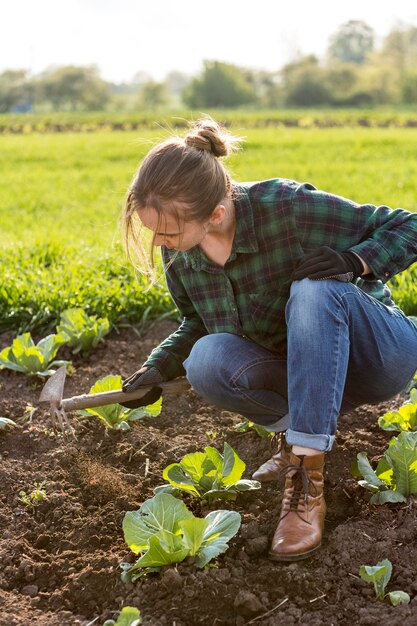
<svg viewBox="0 0 417 626"><path fill-rule="evenodd" d="M138 72L163 80L203 61L276 71L298 54L323 57L352 19L376 43L399 23L417 26L416 0L0 0L0 72L39 74L97 65L112 82Z"/></svg>

